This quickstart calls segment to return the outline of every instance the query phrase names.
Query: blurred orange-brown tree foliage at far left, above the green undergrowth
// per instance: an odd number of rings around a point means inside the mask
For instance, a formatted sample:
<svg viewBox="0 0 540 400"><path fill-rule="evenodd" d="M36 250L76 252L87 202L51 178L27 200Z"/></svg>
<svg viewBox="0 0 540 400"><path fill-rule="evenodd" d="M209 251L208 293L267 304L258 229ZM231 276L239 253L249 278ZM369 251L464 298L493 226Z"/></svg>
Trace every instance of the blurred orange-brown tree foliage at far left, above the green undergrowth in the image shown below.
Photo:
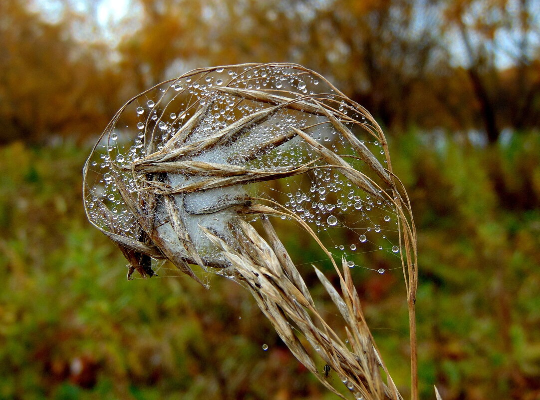
<svg viewBox="0 0 540 400"><path fill-rule="evenodd" d="M69 22L0 0L0 143L96 133L118 106L107 47L76 41Z"/></svg>

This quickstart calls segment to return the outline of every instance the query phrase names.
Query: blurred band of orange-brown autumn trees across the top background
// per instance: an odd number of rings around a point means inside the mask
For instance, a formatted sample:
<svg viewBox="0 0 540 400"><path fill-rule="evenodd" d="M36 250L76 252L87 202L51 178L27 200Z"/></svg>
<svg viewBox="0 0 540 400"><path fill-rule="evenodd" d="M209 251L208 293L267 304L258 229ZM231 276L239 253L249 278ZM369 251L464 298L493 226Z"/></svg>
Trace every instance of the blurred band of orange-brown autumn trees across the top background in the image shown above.
<svg viewBox="0 0 540 400"><path fill-rule="evenodd" d="M102 2L59 4L0 0L0 142L84 137L157 82L243 62L320 71L394 135L495 142L540 118L538 0L131 0L114 31Z"/></svg>

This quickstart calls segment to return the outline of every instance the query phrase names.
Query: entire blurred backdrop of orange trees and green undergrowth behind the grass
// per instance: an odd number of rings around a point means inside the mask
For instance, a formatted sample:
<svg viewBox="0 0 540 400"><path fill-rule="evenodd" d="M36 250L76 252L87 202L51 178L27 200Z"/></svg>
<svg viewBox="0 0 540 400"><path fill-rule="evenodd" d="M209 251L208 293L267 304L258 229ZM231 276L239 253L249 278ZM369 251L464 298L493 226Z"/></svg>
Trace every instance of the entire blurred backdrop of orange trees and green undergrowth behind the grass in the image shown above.
<svg viewBox="0 0 540 400"><path fill-rule="evenodd" d="M421 398L540 399L538 0L0 0L0 399L335 398L239 286L167 265L127 282L83 210L85 159L128 99L280 61L386 132L419 232ZM407 396L400 272L355 279Z"/></svg>

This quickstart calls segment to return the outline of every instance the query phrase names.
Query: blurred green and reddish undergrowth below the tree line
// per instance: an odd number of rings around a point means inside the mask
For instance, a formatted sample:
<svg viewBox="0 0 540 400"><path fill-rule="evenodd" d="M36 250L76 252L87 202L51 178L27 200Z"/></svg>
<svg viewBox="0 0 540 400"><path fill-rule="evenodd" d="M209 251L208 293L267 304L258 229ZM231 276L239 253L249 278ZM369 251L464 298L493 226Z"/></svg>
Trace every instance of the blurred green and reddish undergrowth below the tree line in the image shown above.
<svg viewBox="0 0 540 400"><path fill-rule="evenodd" d="M475 148L410 132L390 150L419 230L422 398L436 383L445 399L537 399L539 136ZM122 255L83 213L86 154L0 149L0 399L325 398L234 283L212 277L205 291L167 265L126 281ZM354 274L407 385L401 271Z"/></svg>

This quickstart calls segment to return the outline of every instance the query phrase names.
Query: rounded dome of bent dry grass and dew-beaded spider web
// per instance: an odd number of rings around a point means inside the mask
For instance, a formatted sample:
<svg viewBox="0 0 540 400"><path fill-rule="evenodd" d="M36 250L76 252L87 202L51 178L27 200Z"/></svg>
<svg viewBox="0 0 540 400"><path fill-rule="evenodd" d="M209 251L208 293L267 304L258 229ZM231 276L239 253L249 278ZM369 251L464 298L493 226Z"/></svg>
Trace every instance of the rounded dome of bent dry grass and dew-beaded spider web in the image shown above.
<svg viewBox="0 0 540 400"><path fill-rule="evenodd" d="M233 65L188 72L127 102L86 162L84 203L128 259L129 277L152 276L168 259L199 282L188 264L257 291L266 281L246 265L266 262L311 304L289 268L314 260L291 260L275 221L300 227L334 266L343 259L382 273L362 255L386 253L410 294L414 224L391 171L379 125L325 78L294 64Z"/></svg>

